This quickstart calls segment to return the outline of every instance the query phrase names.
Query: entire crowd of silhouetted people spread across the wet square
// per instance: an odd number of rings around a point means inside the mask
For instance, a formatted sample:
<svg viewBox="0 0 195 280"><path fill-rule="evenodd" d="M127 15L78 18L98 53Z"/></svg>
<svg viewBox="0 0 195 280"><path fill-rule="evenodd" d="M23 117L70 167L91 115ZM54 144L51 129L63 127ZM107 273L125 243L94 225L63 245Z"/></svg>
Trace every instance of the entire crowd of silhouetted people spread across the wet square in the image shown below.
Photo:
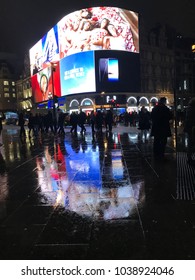
<svg viewBox="0 0 195 280"><path fill-rule="evenodd" d="M65 121L67 114L62 111L48 111L42 115L38 113L30 113L28 116L28 130L25 129L25 117L23 113L19 114L18 125L20 127L20 137L28 136L38 137L40 133L53 133L57 135L65 135ZM0 118L0 135L2 131L2 120ZM174 121L174 114L171 109L166 106L166 98L162 97L151 112L145 106L136 112L125 112L123 116L117 116L113 113L112 108L109 110L91 111L86 114L84 111L72 112L68 115L68 124L70 133L77 135L78 129L80 133L86 132L86 124L90 125L92 134L102 133L103 128L107 132L112 132L113 126L117 122L123 122L124 126L136 127L140 131L139 138L146 142L148 137L153 138L153 155L157 159L163 159L167 139L172 136L171 121ZM187 109L183 121L183 132L187 134L187 158L188 164L195 166L194 148L195 148L195 99L192 98ZM0 144L2 145L2 143Z"/></svg>

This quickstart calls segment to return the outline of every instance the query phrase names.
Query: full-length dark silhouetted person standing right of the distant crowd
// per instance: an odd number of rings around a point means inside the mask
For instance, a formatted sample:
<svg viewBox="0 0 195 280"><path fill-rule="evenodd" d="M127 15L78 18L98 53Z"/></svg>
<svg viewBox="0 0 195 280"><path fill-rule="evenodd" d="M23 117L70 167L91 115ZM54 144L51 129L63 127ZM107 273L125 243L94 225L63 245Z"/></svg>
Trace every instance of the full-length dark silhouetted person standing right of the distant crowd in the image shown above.
<svg viewBox="0 0 195 280"><path fill-rule="evenodd" d="M153 153L155 158L164 157L167 138L171 137L170 120L172 118L171 110L166 106L166 98L160 98L158 105L151 112L151 136L154 137Z"/></svg>

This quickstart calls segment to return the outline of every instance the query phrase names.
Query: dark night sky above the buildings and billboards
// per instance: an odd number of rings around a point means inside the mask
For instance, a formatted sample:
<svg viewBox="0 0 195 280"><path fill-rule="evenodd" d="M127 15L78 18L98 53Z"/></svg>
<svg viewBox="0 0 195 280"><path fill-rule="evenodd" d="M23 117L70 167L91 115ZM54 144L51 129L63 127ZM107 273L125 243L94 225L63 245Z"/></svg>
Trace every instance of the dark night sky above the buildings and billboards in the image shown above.
<svg viewBox="0 0 195 280"><path fill-rule="evenodd" d="M103 5L138 12L147 25L166 23L184 37L195 38L194 0L1 0L0 48L19 54L28 52L63 16L80 8Z"/></svg>

